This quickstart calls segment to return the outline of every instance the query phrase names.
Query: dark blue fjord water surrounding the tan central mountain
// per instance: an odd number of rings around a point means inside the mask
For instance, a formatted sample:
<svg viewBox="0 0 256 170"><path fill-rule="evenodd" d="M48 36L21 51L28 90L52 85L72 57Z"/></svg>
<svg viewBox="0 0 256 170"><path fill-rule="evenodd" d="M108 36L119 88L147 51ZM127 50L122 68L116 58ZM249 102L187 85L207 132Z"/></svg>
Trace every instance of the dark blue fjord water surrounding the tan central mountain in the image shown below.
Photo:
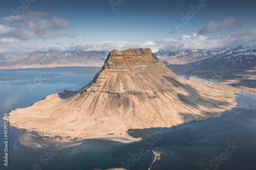
<svg viewBox="0 0 256 170"><path fill-rule="evenodd" d="M100 67L0 69L0 115L28 107L45 96L87 85ZM189 78L186 76L186 78ZM256 169L256 96L239 93L238 105L223 117L172 128L130 130L134 143L84 140L69 148L30 148L19 143L21 130L9 128L9 163L0 169L147 169L152 150L163 152L152 169ZM0 139L4 139L0 121ZM230 147L231 146L231 147ZM228 148L228 149L227 149ZM144 152L140 152L145 149ZM232 150L233 149L233 150ZM139 154L140 153L140 154ZM143 154L141 154L143 153ZM4 143L0 143L0 157Z"/></svg>

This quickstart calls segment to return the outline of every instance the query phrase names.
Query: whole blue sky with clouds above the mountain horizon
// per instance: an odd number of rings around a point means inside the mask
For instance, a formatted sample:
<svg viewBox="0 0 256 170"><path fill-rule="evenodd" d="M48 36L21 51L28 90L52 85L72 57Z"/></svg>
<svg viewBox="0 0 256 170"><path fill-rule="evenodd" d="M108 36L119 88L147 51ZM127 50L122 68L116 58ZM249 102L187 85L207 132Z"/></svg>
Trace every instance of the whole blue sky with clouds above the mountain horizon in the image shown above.
<svg viewBox="0 0 256 170"><path fill-rule="evenodd" d="M0 53L256 45L255 1L9 0L0 7Z"/></svg>

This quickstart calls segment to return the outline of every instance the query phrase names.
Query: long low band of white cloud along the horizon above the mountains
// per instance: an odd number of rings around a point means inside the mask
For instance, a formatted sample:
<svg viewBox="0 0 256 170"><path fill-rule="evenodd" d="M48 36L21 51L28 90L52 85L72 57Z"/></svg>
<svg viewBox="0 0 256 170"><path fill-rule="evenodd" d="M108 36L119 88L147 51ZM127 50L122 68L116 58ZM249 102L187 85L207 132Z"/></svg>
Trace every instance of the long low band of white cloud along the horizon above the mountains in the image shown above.
<svg viewBox="0 0 256 170"><path fill-rule="evenodd" d="M1 27L0 27L1 30ZM15 39L0 39L0 42L15 41ZM112 51L125 50L127 48L161 48L162 50L181 50L181 49L216 49L223 47L233 47L239 45L256 45L256 28L244 32L231 32L221 36L204 36L194 33L193 35L181 35L179 39L159 39L156 41L146 42L125 42L125 41L102 41L89 43L71 43L54 45L27 45L12 44L10 47L2 45L1 53L8 53L8 49L15 49L15 52L32 52L32 51ZM14 51L12 51L14 52Z"/></svg>

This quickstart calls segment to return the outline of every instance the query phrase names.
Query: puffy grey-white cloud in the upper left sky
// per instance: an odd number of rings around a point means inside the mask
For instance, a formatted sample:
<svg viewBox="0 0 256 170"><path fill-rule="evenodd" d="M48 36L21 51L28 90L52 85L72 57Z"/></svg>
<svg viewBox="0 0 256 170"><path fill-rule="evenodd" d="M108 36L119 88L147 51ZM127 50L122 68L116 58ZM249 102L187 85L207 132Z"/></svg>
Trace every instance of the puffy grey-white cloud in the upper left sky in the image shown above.
<svg viewBox="0 0 256 170"><path fill-rule="evenodd" d="M58 36L66 36L62 31L69 26L69 20L53 16L52 20L43 18L46 12L31 11L16 16L1 18L5 25L0 25L0 38L12 38L19 40L48 39ZM11 26L15 23L15 26ZM0 41L1 43L2 41ZM16 41L8 41L14 43Z"/></svg>

